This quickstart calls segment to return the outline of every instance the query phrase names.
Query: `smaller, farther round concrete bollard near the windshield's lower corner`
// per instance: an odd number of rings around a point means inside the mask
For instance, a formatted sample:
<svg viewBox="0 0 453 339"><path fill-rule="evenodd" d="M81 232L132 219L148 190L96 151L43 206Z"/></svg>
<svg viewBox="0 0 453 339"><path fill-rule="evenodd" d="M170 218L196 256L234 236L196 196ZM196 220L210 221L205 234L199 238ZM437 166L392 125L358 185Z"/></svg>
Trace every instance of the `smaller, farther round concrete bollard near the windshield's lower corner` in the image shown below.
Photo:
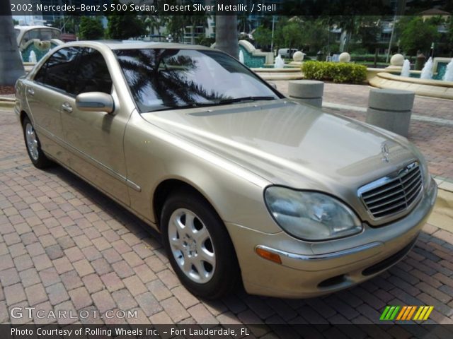
<svg viewBox="0 0 453 339"><path fill-rule="evenodd" d="M289 98L316 107L323 105L324 83L314 80L294 80L289 81Z"/></svg>

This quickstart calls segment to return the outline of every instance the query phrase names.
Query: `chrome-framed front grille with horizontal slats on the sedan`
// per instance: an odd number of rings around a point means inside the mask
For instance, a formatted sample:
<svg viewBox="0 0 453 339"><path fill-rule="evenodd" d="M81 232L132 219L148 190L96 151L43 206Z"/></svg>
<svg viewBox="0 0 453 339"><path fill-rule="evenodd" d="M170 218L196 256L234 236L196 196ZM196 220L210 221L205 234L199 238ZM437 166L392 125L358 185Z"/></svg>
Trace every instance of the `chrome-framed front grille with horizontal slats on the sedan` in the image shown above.
<svg viewBox="0 0 453 339"><path fill-rule="evenodd" d="M374 220L403 213L418 201L423 191L423 180L418 162L398 171L393 177L384 177L362 186L359 196Z"/></svg>

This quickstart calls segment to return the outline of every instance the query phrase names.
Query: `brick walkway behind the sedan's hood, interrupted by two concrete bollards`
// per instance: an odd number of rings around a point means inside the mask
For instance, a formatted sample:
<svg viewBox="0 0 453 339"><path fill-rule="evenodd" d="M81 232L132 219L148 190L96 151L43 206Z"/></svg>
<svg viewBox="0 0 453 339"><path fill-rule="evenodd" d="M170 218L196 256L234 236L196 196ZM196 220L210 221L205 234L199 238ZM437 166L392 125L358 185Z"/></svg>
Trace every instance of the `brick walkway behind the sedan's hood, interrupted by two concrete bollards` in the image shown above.
<svg viewBox="0 0 453 339"><path fill-rule="evenodd" d="M287 95L288 81L273 81ZM365 121L368 85L324 84L323 105L328 112ZM428 160L430 172L453 182L453 101L415 96L408 138Z"/></svg>

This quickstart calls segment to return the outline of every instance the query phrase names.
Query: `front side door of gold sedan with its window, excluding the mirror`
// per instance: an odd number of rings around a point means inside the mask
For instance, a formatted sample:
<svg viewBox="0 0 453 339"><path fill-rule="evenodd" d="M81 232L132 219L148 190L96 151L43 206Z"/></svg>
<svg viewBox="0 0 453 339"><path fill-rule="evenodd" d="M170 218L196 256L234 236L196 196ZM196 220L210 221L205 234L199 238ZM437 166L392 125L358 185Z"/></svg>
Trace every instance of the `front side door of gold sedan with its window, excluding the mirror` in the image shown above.
<svg viewBox="0 0 453 339"><path fill-rule="evenodd" d="M81 53L74 77L74 97L62 103L64 139L71 148L69 166L129 205L122 144L129 114L120 109L113 114L77 109L75 95L86 92L112 94L117 103L107 65L96 49L86 48Z"/></svg>

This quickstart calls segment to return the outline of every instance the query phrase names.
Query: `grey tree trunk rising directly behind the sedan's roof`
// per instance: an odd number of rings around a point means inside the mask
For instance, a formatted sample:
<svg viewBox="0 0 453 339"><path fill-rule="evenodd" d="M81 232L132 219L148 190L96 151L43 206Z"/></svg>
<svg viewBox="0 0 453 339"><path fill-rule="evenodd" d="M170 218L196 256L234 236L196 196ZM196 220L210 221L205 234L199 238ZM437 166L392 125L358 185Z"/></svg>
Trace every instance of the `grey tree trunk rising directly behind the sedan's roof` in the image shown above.
<svg viewBox="0 0 453 339"><path fill-rule="evenodd" d="M216 16L215 48L239 59L237 16Z"/></svg>

